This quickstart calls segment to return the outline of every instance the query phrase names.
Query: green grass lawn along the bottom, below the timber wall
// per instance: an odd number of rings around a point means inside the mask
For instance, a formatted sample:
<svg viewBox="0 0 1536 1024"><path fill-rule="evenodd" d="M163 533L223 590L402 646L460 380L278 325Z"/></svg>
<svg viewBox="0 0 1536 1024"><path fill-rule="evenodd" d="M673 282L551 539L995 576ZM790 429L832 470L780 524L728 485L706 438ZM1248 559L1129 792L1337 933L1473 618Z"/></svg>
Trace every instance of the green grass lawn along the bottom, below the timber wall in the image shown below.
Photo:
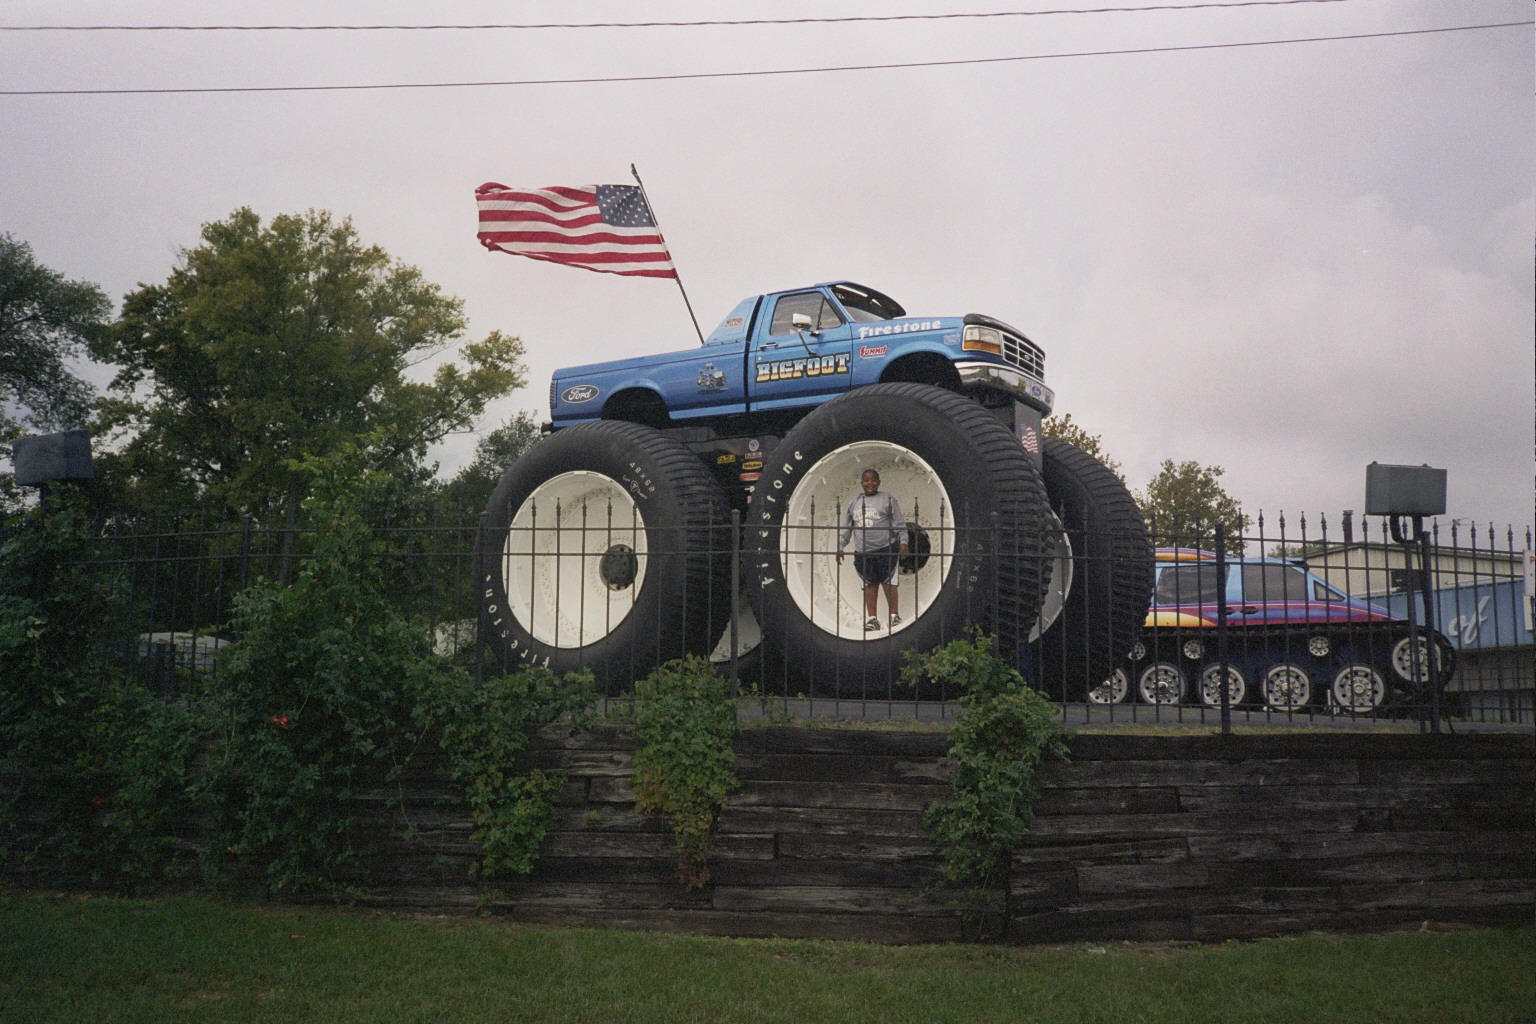
<svg viewBox="0 0 1536 1024"><path fill-rule="evenodd" d="M1536 927L882 947L0 897L0 1022L71 1021L1513 1024L1536 1021Z"/></svg>

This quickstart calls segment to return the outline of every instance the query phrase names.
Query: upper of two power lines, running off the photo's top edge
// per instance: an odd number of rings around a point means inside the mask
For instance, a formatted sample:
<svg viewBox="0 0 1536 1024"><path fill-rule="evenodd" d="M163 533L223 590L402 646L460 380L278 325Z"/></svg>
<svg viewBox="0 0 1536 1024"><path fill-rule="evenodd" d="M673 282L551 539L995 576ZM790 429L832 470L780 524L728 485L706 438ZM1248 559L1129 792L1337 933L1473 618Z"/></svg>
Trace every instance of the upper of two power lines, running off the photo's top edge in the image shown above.
<svg viewBox="0 0 1536 1024"><path fill-rule="evenodd" d="M1141 8L1068 8L1061 11L978 11L971 14L866 14L842 18L742 18L736 21L584 21L545 25L0 25L0 32L441 32L484 29L654 29L731 25L840 25L849 21L938 21L946 18L1023 18L1055 14L1140 14L1207 8L1283 8L1298 3L1358 0L1229 0L1226 3L1163 3Z"/></svg>

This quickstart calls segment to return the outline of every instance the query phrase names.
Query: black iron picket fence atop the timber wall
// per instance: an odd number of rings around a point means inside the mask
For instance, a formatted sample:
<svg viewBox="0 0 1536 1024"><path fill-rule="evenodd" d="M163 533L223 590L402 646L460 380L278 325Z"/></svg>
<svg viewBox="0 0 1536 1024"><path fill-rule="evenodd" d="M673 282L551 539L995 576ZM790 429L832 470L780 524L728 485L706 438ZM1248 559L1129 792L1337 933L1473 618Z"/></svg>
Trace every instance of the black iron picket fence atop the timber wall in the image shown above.
<svg viewBox="0 0 1536 1024"><path fill-rule="evenodd" d="M591 669L607 697L696 652L763 714L937 718L958 694L908 656L980 628L1075 722L1536 722L1528 528L1432 522L1407 545L1350 513L1258 516L1238 537L1154 522L1152 554L935 510L885 577L839 559L829 524L581 516L387 522L370 557L438 654L481 676ZM313 553L304 524L138 524L103 530L91 567L126 594L124 659L169 688L217 676L235 596Z"/></svg>

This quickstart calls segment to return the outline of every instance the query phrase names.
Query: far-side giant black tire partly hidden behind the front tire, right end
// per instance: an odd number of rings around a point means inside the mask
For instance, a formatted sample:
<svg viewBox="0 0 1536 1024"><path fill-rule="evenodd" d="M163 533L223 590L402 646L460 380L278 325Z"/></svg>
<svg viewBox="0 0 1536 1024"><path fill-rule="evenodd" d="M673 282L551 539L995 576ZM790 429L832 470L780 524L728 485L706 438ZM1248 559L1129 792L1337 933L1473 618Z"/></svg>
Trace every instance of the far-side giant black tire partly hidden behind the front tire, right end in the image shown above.
<svg viewBox="0 0 1536 1024"><path fill-rule="evenodd" d="M1057 438L1046 438L1040 454L1071 563L1066 573L1058 565L1046 588L1046 603L1055 593L1060 614L1044 623L1035 648L1044 688L1081 700L1109 679L1141 633L1152 600L1152 543L1141 510L1114 470Z"/></svg>

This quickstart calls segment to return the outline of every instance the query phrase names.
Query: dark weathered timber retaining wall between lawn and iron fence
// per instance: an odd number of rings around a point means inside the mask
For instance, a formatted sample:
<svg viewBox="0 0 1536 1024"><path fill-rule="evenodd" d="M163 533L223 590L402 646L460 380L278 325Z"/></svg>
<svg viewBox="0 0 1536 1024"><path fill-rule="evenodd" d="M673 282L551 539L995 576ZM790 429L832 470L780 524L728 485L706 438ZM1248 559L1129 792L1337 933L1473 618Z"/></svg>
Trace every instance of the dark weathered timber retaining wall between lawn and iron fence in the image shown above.
<svg viewBox="0 0 1536 1024"><path fill-rule="evenodd" d="M568 778L528 877L467 880L472 826L427 761L407 789L412 835L359 880L362 898L874 941L978 927L1020 941L1223 940L1536 912L1528 734L1077 737L1074 758L1044 771L1008 892L978 907L935 886L922 824L948 797L946 745L938 732L743 731L742 789L720 818L710 884L693 890L677 881L670 823L634 811L622 728L541 735L530 761Z"/></svg>

